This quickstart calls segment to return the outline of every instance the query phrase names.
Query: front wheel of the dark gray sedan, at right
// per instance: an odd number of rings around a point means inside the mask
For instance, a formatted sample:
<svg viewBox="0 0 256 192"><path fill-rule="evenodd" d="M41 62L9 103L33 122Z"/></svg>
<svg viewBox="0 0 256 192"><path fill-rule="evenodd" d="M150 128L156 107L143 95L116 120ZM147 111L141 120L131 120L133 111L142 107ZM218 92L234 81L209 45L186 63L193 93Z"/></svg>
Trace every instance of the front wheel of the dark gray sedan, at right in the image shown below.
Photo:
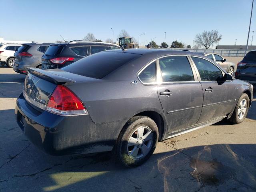
<svg viewBox="0 0 256 192"><path fill-rule="evenodd" d="M243 93L242 96L239 98L236 104L236 108L234 109L234 112L229 120L234 124L242 123L248 113L249 102L250 100L248 95L246 93Z"/></svg>

